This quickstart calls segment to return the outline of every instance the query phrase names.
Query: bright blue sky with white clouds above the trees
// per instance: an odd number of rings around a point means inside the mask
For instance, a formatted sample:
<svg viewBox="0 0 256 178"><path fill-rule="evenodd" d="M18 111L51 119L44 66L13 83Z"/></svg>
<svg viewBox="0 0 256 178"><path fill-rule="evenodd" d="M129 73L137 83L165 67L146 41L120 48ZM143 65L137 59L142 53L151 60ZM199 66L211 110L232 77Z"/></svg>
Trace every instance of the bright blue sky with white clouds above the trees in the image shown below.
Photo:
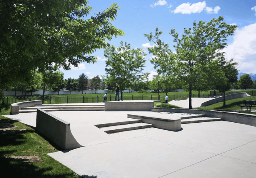
<svg viewBox="0 0 256 178"><path fill-rule="evenodd" d="M237 25L233 36L228 38L228 46L224 49L226 59L238 63L239 72L256 74L256 0L88 0L88 6L93 10L88 17L95 16L117 3L120 10L112 25L124 31L124 36L113 37L110 45L120 46L121 41L130 43L132 48L142 48L146 51L146 63L143 72L149 72L149 80L157 74L150 63L151 54L148 47L154 44L149 42L144 34L155 32L156 27L164 33L160 39L168 43L170 49L175 52L173 37L169 34L171 29L176 29L179 37L193 22L200 20L210 22L212 18L224 17L224 22ZM98 57L97 63L81 63L78 68L60 70L64 73L64 79L79 78L84 73L88 78L106 74L106 57L104 49L96 50L93 56Z"/></svg>

